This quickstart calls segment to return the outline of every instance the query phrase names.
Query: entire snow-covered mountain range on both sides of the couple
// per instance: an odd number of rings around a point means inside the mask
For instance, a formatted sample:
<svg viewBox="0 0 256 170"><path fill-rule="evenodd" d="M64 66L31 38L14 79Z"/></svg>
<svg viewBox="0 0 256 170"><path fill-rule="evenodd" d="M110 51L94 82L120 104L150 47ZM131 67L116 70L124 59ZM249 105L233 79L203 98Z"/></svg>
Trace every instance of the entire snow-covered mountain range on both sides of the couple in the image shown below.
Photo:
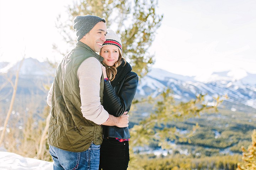
<svg viewBox="0 0 256 170"><path fill-rule="evenodd" d="M13 65L0 63L0 73L13 72L18 64L19 62ZM50 67L49 63L27 58L22 64L20 75L42 78L53 75L54 72L55 68ZM256 74L246 73L244 70L212 73L204 77L188 77L152 68L145 77L140 79L135 97L148 95L154 97L166 87L173 90L176 100L187 101L198 94L208 94L206 100L211 101L212 97L228 95L227 101L233 103L233 107L243 104L256 108Z"/></svg>

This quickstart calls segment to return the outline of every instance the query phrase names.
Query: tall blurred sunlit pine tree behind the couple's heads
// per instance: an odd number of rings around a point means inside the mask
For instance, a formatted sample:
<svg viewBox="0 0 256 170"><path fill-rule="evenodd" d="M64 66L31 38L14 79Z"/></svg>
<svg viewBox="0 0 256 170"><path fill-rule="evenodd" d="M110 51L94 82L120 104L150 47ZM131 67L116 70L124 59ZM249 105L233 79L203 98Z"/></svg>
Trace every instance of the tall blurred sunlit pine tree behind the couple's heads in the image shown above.
<svg viewBox="0 0 256 170"><path fill-rule="evenodd" d="M163 15L156 14L157 4L157 0L78 0L68 6L69 19L63 21L60 16L56 26L64 40L74 46L75 16L90 14L104 18L107 28L121 35L123 54L133 71L143 77L154 63L154 55L148 49L163 18ZM54 48L58 49L56 45Z"/></svg>

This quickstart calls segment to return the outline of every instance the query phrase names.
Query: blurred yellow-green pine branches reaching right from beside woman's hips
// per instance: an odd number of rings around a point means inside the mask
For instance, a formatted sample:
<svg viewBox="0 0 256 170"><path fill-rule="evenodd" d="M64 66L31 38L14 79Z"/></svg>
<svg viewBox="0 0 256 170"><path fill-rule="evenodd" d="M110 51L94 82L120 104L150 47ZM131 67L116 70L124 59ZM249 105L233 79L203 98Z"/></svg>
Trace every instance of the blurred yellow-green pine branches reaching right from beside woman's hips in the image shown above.
<svg viewBox="0 0 256 170"><path fill-rule="evenodd" d="M190 137L194 134L196 129L199 128L198 124L195 124L190 133L181 135L177 129L170 126L171 121L183 121L188 118L199 116L200 113L208 111L217 111L217 107L222 103L222 98L218 96L215 99L213 106L208 106L204 95L199 94L196 99L192 99L188 102L176 103L174 100L172 91L167 89L163 91L159 96L155 97L157 101L155 104L155 111L150 114L148 118L142 120L139 125L134 125L130 129L131 136L133 136L131 145L146 144L152 140L159 141L159 146L163 149L169 149L168 141L178 140L180 142L190 142Z"/></svg>

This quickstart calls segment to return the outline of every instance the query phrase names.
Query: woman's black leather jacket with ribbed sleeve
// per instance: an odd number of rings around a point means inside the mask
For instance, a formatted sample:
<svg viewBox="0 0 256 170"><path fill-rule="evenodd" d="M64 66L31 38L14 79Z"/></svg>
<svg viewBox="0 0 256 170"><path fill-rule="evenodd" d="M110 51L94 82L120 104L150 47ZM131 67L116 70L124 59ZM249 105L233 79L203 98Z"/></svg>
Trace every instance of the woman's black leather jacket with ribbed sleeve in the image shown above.
<svg viewBox="0 0 256 170"><path fill-rule="evenodd" d="M124 62L117 67L116 78L111 83L104 82L103 107L115 117L121 116L125 111L129 112L139 81L138 75L131 72L130 64L128 62L124 66L123 64ZM130 138L128 127L104 126L103 130L103 138Z"/></svg>

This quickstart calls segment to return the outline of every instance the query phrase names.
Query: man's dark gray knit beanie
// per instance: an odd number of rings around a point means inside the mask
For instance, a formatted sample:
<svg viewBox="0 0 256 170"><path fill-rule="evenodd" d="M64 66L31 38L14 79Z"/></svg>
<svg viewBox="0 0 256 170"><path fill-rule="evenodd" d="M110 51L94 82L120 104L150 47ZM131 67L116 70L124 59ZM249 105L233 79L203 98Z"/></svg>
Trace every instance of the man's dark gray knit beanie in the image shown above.
<svg viewBox="0 0 256 170"><path fill-rule="evenodd" d="M77 41L81 40L83 36L90 32L90 30L98 23L98 22L105 22L105 19L94 15L84 15L84 16L76 16L74 19L74 26L73 28L76 31L76 36L78 38Z"/></svg>

